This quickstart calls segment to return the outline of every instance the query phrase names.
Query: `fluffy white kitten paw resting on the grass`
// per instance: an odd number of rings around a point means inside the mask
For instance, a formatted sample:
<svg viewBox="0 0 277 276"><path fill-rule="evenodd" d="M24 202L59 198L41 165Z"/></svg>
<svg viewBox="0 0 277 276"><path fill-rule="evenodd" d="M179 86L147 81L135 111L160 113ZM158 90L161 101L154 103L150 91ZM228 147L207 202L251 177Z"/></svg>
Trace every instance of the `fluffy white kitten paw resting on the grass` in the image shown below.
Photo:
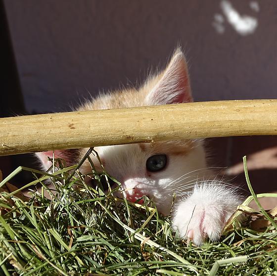
<svg viewBox="0 0 277 276"><path fill-rule="evenodd" d="M189 197L176 204L172 224L180 237L190 238L196 245L201 245L207 237L215 241L240 203L235 188L220 181L206 182L195 186Z"/></svg>

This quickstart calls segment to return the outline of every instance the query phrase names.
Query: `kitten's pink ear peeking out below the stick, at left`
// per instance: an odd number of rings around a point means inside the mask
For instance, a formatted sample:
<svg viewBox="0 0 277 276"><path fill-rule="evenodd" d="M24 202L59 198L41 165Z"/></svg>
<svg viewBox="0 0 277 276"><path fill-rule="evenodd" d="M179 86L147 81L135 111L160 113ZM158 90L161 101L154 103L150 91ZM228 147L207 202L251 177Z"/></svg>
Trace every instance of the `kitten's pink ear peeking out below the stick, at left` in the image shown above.
<svg viewBox="0 0 277 276"><path fill-rule="evenodd" d="M66 162L66 166L72 166L79 161L80 149L71 149L71 150L55 150L54 158L62 158ZM48 152L39 152L36 153L36 156L39 158L43 169L46 171L49 167L52 166L52 162L49 161L53 158L53 151Z"/></svg>

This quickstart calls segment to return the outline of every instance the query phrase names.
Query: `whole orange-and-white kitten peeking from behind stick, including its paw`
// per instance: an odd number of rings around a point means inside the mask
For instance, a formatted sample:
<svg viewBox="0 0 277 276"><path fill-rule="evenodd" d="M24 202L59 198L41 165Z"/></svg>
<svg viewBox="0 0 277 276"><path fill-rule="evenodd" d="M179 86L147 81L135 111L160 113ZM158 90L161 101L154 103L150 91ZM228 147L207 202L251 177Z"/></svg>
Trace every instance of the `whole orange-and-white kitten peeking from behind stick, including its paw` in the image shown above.
<svg viewBox="0 0 277 276"><path fill-rule="evenodd" d="M100 95L78 110L120 109L192 102L187 64L177 50L166 69L149 77L138 90L126 89ZM64 158L67 165L81 160L88 149L59 150L55 157ZM203 141L141 143L96 147L106 171L122 183L123 195L136 202L143 195L152 198L159 212L169 215L174 194L172 225L183 239L190 238L201 245L206 237L217 240L225 223L240 203L234 188L214 179L207 168ZM51 166L47 156L37 153L45 169ZM94 155L92 161L101 166ZM80 170L91 172L89 162Z"/></svg>

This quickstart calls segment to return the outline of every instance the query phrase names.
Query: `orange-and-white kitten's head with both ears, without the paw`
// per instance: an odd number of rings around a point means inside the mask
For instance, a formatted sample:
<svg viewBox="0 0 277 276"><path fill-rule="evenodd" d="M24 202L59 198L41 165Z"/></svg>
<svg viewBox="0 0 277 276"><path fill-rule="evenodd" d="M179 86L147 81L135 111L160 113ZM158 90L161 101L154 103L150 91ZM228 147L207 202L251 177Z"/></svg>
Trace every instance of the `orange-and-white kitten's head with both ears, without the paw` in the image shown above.
<svg viewBox="0 0 277 276"><path fill-rule="evenodd" d="M92 102L85 103L79 110L156 106L191 101L185 56L177 50L166 69L150 77L139 90L100 95ZM128 200L135 202L146 195L153 199L158 210L165 215L169 214L173 194L197 178L197 172L190 172L206 167L205 152L199 140L105 146L96 147L95 151L106 171L122 183L122 194ZM45 168L50 165L46 162L48 153L38 153ZM65 158L68 165L71 165L85 153L86 149L79 149L77 152L64 150L58 151L55 156ZM92 155L91 158L96 168L101 170L96 157ZM89 162L84 163L81 171L91 171ZM182 177L186 173L188 174Z"/></svg>

